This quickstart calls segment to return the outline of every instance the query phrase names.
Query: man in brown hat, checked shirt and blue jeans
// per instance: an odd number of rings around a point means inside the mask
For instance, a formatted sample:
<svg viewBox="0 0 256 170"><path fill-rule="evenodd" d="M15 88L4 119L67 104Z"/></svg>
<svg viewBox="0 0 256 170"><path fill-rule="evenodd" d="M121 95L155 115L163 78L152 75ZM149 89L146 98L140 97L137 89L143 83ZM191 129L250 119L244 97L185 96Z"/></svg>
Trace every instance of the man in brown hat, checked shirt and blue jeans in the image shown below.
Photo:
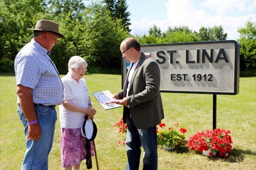
<svg viewBox="0 0 256 170"><path fill-rule="evenodd" d="M49 57L57 38L65 38L59 25L38 20L32 40L15 58L18 115L25 127L26 151L21 170L47 170L52 148L56 110L63 99L63 85Z"/></svg>

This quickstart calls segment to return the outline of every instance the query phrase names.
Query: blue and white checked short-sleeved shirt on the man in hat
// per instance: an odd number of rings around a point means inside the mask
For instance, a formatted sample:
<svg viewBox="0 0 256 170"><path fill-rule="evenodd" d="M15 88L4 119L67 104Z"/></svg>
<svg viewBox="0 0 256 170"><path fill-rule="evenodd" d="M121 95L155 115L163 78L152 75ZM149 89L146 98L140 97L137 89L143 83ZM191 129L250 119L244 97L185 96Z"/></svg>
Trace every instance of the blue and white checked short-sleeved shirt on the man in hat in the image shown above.
<svg viewBox="0 0 256 170"><path fill-rule="evenodd" d="M17 54L14 62L16 85L32 88L34 103L60 105L63 85L47 49L34 39ZM19 101L18 101L19 102Z"/></svg>

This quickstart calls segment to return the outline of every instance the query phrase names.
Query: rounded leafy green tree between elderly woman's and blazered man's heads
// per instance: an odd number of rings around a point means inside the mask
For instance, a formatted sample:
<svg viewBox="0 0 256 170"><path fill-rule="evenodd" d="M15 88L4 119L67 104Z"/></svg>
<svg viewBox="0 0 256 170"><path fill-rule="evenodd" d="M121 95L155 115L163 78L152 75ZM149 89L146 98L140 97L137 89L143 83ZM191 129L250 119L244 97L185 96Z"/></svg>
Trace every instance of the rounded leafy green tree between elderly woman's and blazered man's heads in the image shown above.
<svg viewBox="0 0 256 170"><path fill-rule="evenodd" d="M87 6L82 15L84 20L74 28L74 32L82 33L74 35L79 55L89 67L121 68L119 45L129 37L122 20L113 22L110 12L98 2Z"/></svg>

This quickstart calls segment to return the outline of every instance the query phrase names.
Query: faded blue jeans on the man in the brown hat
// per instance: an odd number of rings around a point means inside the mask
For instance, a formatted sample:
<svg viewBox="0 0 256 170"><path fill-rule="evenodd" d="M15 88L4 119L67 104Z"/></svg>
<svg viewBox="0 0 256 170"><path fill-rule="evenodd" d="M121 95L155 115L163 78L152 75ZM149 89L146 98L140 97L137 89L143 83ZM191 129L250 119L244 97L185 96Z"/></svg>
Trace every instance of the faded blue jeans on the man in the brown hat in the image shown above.
<svg viewBox="0 0 256 170"><path fill-rule="evenodd" d="M35 112L41 127L41 137L38 141L26 138L26 151L21 170L48 170L48 156L52 149L57 113L47 106L35 106ZM29 124L18 105L18 115L23 124L25 137L28 134Z"/></svg>

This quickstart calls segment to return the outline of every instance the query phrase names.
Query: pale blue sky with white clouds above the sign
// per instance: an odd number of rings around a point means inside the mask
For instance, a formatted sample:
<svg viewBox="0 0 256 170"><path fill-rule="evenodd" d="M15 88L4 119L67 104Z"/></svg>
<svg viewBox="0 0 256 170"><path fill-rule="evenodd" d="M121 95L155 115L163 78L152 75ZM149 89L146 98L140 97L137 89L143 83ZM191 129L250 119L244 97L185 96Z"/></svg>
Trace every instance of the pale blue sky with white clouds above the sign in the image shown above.
<svg viewBox="0 0 256 170"><path fill-rule="evenodd" d="M227 40L239 39L237 29L248 20L256 22L256 0L126 0L132 35L148 34L154 25L188 26L199 31L204 26L222 26Z"/></svg>

